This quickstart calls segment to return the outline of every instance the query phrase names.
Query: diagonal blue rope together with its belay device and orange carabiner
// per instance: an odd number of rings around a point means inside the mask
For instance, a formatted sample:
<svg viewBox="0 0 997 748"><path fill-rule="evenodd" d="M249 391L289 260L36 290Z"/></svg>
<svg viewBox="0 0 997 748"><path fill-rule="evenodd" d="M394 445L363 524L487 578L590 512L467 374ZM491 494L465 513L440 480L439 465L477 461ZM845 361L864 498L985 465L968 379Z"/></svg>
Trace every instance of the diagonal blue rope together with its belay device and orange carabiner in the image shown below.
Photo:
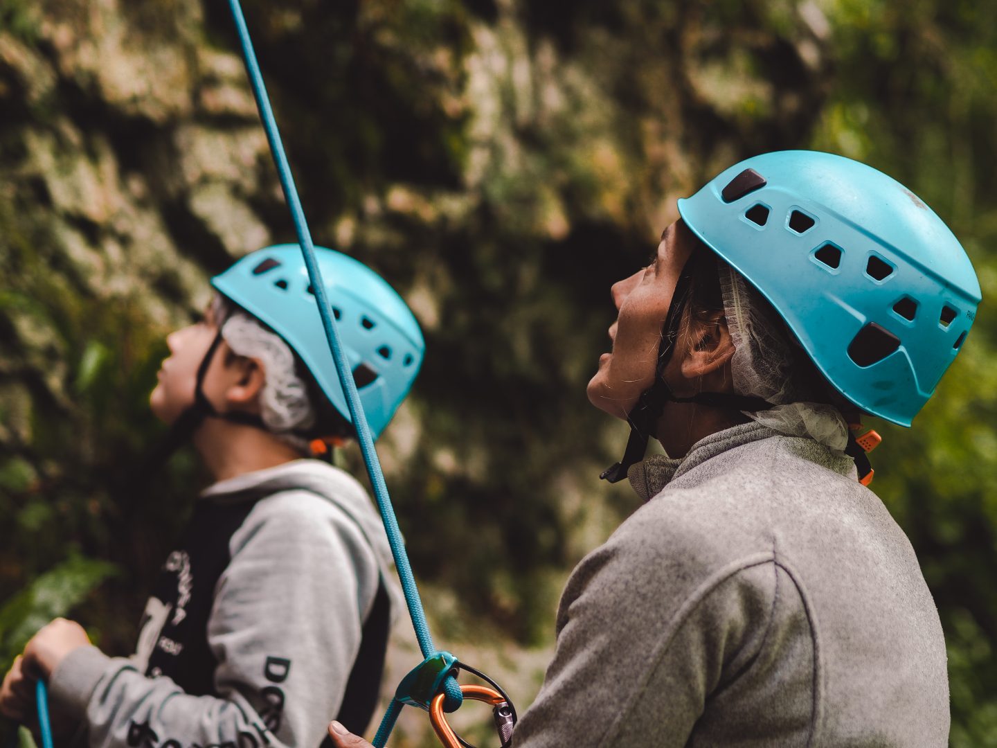
<svg viewBox="0 0 997 748"><path fill-rule="evenodd" d="M343 354L339 333L336 330L336 323L329 311L332 307L326 296L325 284L322 282L318 263L315 261L315 250L312 244L311 233L308 230L308 223L301 208L301 201L298 199L297 188L294 186L294 179L291 176L287 157L284 154L284 147L280 140L277 123L273 118L273 111L270 108L270 101L266 95L266 88L263 85L259 64L256 61L256 54L253 51L252 40L249 38L249 30L246 28L245 17L242 15L239 0L229 0L229 6L232 11L232 18L235 21L235 29L238 33L239 44L242 47L242 57L245 62L246 73L249 76L253 96L256 99L259 117L262 121L263 129L266 131L266 139L270 144L270 152L277 167L280 186L284 190L284 197L291 210L291 218L294 221L294 228L298 235L298 243L301 245L301 253L304 257L305 266L308 269L308 278L311 281L312 288L315 289L315 298L318 302L319 314L322 317L322 326L325 329L332 357L336 362L336 373L339 376L343 392L346 394L350 416L357 432L357 441L360 444L364 464L367 466L367 475L370 477L371 485L374 488L374 497L381 512L385 532L388 534L388 541L391 544L391 552L395 559L395 566L398 569L398 576L402 582L402 589L405 593L405 601L409 607L412 625L416 629L419 648L422 650L423 657L425 657L423 662L399 684L395 697L392 699L388 711L381 721L377 735L374 738L375 748L383 748L387 742L388 736L391 734L391 730L404 704L430 710L434 728L445 745L457 746L458 743L467 745L467 743L454 734L450 726L447 725L446 718L443 716L444 711L454 711L460 707L465 692L467 692L469 698L485 700L495 706L496 722L499 735L502 737L502 745L507 745L506 735L510 737L511 723L514 723L515 720L515 711L512 709L508 698L501 692L498 685L487 677L485 679L495 686L495 688L460 686L455 677L460 669L469 670L479 676L482 676L482 674L458 662L457 658L450 652L438 651L433 646L433 638L430 635L426 613L423 610L423 603L419 597L419 589L416 587L416 580L412 574L412 566L409 563L402 534L398 528L398 520L395 518L391 499L388 496L388 488L385 485L384 474L381 471L381 463L374 449L374 439L367 425L367 417L364 415L363 406L360 403L356 383L353 381L346 356ZM505 727L506 725L507 727Z"/></svg>

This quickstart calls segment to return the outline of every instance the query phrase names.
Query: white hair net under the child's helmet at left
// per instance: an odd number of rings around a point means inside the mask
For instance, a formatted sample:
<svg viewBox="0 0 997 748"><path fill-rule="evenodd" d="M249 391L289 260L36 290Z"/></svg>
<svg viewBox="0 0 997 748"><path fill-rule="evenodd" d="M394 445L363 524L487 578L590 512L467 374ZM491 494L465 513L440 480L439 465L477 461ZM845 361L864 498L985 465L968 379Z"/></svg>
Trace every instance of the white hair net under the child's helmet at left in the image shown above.
<svg viewBox="0 0 997 748"><path fill-rule="evenodd" d="M308 388L297 375L294 354L283 339L252 315L215 296L214 311L221 323L221 337L239 356L257 359L265 380L259 396L260 418L266 428L292 447L305 451L307 441L290 434L315 423Z"/></svg>

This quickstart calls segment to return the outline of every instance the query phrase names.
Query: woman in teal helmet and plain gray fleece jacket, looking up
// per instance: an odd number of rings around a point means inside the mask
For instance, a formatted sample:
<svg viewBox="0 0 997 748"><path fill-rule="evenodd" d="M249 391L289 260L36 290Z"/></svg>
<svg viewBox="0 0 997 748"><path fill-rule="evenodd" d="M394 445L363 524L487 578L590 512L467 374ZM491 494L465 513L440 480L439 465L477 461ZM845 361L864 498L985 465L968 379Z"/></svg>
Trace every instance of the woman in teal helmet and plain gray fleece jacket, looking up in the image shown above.
<svg viewBox="0 0 997 748"><path fill-rule="evenodd" d="M645 504L571 574L513 745L947 745L938 613L849 425L930 397L980 301L969 259L828 154L750 159L679 210L613 285L588 385L632 427L603 477Z"/></svg>

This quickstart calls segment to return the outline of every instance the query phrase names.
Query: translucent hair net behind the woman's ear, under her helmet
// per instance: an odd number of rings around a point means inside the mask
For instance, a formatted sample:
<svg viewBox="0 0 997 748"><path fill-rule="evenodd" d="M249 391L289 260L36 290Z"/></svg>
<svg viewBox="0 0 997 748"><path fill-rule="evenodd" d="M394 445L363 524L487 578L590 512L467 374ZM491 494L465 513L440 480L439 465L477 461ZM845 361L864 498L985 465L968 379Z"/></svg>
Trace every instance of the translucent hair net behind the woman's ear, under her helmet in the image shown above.
<svg viewBox="0 0 997 748"><path fill-rule="evenodd" d="M734 343L734 391L775 405L745 415L775 431L810 437L836 451L848 442L848 427L833 405L810 402L817 393L795 362L805 356L761 293L729 265L719 267L727 325Z"/></svg>

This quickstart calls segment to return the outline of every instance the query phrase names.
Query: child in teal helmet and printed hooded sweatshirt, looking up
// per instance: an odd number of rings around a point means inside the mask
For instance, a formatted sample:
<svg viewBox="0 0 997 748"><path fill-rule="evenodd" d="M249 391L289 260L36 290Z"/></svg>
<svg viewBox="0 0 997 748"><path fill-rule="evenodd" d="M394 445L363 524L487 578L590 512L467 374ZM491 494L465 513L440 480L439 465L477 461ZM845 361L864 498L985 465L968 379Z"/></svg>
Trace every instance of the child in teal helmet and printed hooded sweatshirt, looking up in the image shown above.
<svg viewBox="0 0 997 748"><path fill-rule="evenodd" d="M370 268L316 256L376 438L419 370L422 333ZM192 439L215 482L166 559L136 654L109 657L56 620L0 692L24 718L29 678L46 677L65 740L314 747L330 715L362 731L377 703L391 550L360 484L306 459L352 427L300 249L253 252L212 284L204 319L168 336L151 406L168 447Z"/></svg>

